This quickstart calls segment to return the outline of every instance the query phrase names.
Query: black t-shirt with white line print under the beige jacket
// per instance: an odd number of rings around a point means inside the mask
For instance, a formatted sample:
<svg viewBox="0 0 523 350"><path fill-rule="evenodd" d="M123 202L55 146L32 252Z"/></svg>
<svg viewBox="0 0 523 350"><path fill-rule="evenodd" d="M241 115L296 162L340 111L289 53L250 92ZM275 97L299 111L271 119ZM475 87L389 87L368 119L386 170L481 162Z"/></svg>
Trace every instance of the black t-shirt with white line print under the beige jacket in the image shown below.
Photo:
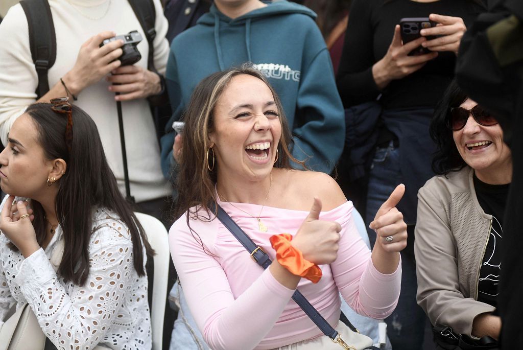
<svg viewBox="0 0 523 350"><path fill-rule="evenodd" d="M510 185L485 184L474 176L477 201L486 214L492 215L487 247L481 263L477 300L497 307L498 283L501 275L501 245L503 240L503 217Z"/></svg>

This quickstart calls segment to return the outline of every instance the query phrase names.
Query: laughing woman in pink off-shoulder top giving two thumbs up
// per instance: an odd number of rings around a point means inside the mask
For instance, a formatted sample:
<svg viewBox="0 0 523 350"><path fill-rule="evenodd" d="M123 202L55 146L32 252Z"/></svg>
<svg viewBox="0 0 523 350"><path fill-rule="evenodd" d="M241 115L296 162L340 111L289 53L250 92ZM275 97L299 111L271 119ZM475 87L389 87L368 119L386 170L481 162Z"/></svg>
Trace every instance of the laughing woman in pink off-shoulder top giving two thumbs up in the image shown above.
<svg viewBox="0 0 523 350"><path fill-rule="evenodd" d="M213 349L341 349L292 301L297 288L342 338L351 331L338 322L338 290L354 310L376 319L394 310L400 294L399 251L407 233L395 205L404 186L371 223L380 238L370 252L336 182L292 170L290 162L300 162L290 155L285 120L265 77L247 66L204 79L185 116L181 217L169 243L189 308ZM268 253L269 268L257 265L215 218L213 201ZM281 233L319 266L317 283L280 264L269 239Z"/></svg>

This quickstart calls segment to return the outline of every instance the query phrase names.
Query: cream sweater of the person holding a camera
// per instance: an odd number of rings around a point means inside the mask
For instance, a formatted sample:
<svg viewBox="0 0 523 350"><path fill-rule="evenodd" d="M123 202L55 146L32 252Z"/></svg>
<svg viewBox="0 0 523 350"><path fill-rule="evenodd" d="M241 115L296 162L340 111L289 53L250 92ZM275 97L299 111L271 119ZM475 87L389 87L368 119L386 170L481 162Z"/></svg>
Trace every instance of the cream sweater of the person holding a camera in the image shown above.
<svg viewBox="0 0 523 350"><path fill-rule="evenodd" d="M48 74L50 87L72 69L82 43L106 30L115 31L118 35L138 30L144 40L138 44L142 59L136 65L147 68L149 46L127 0L49 0L49 4L56 33L56 61ZM154 0L154 5L157 33L154 64L163 74L169 52L165 39L168 25L160 2ZM0 139L4 145L13 122L36 100L38 78L31 60L28 33L26 16L17 4L9 9L0 25ZM107 160L123 193L117 109L114 94L108 91L108 86L108 82L101 80L85 88L78 94L75 104L96 122ZM131 195L138 202L168 195L149 103L146 99L125 101L122 111Z"/></svg>

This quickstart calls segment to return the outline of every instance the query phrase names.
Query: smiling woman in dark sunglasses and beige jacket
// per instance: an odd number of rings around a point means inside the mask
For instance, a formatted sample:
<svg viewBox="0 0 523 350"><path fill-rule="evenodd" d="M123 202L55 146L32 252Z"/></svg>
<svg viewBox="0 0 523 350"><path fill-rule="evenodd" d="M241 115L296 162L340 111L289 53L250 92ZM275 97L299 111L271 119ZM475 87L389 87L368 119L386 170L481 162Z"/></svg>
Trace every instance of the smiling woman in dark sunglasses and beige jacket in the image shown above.
<svg viewBox="0 0 523 350"><path fill-rule="evenodd" d="M430 134L438 145L433 169L439 175L418 193L417 302L437 327L497 339L501 319L493 311L510 150L496 119L455 81L436 108Z"/></svg>

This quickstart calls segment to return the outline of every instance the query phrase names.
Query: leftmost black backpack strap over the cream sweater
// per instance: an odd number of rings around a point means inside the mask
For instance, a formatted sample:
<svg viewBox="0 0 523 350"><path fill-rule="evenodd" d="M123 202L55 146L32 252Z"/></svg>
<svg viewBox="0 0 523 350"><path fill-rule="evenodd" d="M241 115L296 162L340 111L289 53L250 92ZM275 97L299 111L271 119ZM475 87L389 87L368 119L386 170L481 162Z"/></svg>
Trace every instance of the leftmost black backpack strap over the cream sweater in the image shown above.
<svg viewBox="0 0 523 350"><path fill-rule="evenodd" d="M47 73L56 60L56 36L47 0L22 0L29 27L31 57L38 74L37 99L49 91Z"/></svg>

